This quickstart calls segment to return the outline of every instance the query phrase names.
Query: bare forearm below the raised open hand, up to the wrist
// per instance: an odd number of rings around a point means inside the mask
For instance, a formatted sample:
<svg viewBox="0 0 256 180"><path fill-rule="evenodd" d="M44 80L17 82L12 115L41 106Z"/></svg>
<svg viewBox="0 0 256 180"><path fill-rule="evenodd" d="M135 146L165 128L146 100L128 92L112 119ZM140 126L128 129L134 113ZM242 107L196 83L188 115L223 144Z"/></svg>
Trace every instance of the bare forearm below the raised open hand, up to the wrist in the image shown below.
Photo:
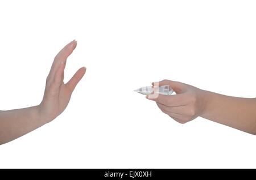
<svg viewBox="0 0 256 180"><path fill-rule="evenodd" d="M39 106L0 112L0 144L10 142L47 121L40 115Z"/></svg>

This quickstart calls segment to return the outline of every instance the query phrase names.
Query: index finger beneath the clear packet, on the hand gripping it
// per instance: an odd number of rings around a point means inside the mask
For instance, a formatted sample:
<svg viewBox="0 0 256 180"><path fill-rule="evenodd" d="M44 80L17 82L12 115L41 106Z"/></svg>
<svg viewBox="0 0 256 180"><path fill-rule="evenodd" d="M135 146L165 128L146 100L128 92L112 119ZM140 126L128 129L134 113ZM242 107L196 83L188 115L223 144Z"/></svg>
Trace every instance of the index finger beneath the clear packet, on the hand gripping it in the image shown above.
<svg viewBox="0 0 256 180"><path fill-rule="evenodd" d="M188 103L188 100L185 96L185 94L171 96L158 94L158 97L156 98L151 98L151 96L146 96L146 98L155 102L159 102L160 104L166 105L168 107L173 107L186 105Z"/></svg>

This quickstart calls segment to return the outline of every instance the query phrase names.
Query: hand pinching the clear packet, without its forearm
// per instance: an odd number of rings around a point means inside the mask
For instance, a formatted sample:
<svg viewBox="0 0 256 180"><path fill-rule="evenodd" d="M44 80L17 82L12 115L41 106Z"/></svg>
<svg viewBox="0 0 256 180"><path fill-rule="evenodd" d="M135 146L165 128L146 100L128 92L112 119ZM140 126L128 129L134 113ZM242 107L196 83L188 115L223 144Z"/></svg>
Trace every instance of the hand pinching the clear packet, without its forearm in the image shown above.
<svg viewBox="0 0 256 180"><path fill-rule="evenodd" d="M155 88L156 83L152 83ZM207 104L206 92L193 87L192 85L174 82L171 80L162 80L162 85L170 85L176 92L176 95L158 95L156 98L146 96L146 98L156 102L163 113L170 115L172 119L179 123L192 121L204 112Z"/></svg>

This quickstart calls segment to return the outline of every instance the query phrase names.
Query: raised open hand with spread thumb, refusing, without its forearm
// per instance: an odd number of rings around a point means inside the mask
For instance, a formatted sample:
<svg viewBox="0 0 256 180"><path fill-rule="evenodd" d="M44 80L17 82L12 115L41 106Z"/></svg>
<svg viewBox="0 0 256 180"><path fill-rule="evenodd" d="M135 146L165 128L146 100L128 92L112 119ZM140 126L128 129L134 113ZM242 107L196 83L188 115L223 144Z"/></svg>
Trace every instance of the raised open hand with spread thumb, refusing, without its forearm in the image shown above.
<svg viewBox="0 0 256 180"><path fill-rule="evenodd" d="M44 97L39 105L40 115L47 122L52 121L65 110L72 92L85 74L86 68L81 67L68 83L63 82L67 58L72 54L76 45L77 42L73 40L56 55L47 76Z"/></svg>

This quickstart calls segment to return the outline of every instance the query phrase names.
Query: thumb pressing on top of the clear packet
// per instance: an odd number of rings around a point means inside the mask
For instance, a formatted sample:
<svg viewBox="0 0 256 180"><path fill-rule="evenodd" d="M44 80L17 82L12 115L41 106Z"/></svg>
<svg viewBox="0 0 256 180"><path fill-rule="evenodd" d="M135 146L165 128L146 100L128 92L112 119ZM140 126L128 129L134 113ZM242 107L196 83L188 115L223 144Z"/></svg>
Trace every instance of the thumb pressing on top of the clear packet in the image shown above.
<svg viewBox="0 0 256 180"><path fill-rule="evenodd" d="M176 94L183 93L187 89L187 84L175 82L175 81L167 80L167 79L164 79L160 82L154 82L154 83L152 83L152 85L153 85L153 87L156 87L156 86L160 87L162 85L170 85L170 88L172 88Z"/></svg>

